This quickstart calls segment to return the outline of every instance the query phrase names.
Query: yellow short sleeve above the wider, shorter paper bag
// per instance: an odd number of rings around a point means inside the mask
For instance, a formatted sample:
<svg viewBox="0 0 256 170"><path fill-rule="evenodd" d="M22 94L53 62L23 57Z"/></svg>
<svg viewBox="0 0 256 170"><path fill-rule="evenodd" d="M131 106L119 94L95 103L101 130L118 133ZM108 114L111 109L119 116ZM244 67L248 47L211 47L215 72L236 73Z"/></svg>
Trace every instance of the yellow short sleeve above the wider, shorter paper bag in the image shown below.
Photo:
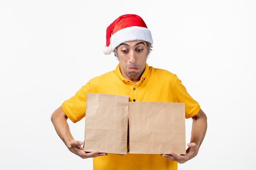
<svg viewBox="0 0 256 170"><path fill-rule="evenodd" d="M174 102L185 103L186 119L195 116L199 112L200 105L189 95L189 93L186 91L185 86L178 78L175 84L173 96Z"/></svg>

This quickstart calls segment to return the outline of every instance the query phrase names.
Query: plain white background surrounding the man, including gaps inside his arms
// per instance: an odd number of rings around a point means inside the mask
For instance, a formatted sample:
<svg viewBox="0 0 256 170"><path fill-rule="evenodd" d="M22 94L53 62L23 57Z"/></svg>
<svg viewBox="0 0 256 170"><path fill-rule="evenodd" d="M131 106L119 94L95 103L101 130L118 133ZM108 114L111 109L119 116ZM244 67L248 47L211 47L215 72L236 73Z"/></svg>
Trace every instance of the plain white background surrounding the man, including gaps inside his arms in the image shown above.
<svg viewBox="0 0 256 170"><path fill-rule="evenodd" d="M255 0L1 0L0 169L92 169L50 116L91 78L112 71L106 28L127 13L153 35L148 64L182 80L208 117L198 155L180 170L251 170L255 161ZM83 140L84 119L70 128ZM186 120L189 142L191 119Z"/></svg>

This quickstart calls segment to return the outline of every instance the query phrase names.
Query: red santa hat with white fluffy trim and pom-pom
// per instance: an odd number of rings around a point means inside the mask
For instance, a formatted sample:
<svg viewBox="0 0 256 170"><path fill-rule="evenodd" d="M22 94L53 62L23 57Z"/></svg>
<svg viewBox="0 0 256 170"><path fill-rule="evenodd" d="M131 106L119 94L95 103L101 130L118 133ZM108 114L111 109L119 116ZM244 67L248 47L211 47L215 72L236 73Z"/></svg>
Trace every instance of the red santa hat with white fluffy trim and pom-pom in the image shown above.
<svg viewBox="0 0 256 170"><path fill-rule="evenodd" d="M143 40L153 44L150 30L141 17L135 14L121 15L107 28L106 46L103 53L108 55L119 44L132 40Z"/></svg>

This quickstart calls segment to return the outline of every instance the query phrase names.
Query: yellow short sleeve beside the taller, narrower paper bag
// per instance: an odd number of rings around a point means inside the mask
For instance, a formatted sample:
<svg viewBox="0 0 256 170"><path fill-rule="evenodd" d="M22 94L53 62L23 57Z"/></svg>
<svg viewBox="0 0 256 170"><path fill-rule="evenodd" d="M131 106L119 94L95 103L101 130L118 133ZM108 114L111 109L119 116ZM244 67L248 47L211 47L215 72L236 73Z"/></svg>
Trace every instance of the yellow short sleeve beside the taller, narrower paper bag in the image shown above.
<svg viewBox="0 0 256 170"><path fill-rule="evenodd" d="M90 93L90 89L91 89L91 84L90 82L88 82L79 91L77 91L73 97L66 100L61 105L64 113L74 123L76 123L77 121L85 117L86 98L87 98L87 93Z"/></svg>

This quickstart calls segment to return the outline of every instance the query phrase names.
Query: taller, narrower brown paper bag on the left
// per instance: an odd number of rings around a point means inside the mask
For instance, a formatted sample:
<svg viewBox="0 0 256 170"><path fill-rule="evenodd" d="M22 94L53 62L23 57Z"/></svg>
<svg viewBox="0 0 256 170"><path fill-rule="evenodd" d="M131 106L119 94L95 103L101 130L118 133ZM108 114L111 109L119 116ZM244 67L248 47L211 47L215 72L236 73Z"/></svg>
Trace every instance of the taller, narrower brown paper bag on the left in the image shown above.
<svg viewBox="0 0 256 170"><path fill-rule="evenodd" d="M129 97L87 93L84 150L125 155Z"/></svg>

